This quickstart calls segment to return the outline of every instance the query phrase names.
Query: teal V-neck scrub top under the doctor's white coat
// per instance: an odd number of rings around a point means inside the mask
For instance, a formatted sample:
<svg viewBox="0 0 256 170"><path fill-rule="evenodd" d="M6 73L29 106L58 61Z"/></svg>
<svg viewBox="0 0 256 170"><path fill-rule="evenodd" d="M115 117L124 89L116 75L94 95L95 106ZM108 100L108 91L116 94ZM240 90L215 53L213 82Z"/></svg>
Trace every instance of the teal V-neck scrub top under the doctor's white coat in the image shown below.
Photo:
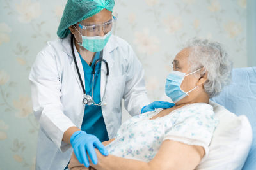
<svg viewBox="0 0 256 170"><path fill-rule="evenodd" d="M91 66L89 66L86 61L79 54L81 62L83 64L84 70L84 83L86 94L92 96L92 78L93 78L93 66L95 61L99 59L100 52L95 53L95 57ZM95 67L94 76L94 89L93 89L93 99L95 103L100 103L100 70L101 62L98 62ZM93 134L97 136L100 141L107 141L108 132L102 116L101 106L86 105L84 109L83 123L81 125L81 130L86 131L88 134Z"/></svg>

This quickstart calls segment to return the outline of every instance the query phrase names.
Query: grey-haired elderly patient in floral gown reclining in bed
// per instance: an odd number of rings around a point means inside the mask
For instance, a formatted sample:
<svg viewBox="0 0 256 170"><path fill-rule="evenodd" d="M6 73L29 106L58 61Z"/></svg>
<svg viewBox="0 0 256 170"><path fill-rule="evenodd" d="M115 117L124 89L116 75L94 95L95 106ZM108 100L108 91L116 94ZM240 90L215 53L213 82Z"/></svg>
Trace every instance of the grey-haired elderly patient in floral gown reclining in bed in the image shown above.
<svg viewBox="0 0 256 170"><path fill-rule="evenodd" d="M116 137L96 150L93 169L195 169L209 153L218 125L209 98L230 82L232 64L220 43L193 38L172 62L166 95L175 106L143 113L121 125ZM74 153L69 169L86 169Z"/></svg>

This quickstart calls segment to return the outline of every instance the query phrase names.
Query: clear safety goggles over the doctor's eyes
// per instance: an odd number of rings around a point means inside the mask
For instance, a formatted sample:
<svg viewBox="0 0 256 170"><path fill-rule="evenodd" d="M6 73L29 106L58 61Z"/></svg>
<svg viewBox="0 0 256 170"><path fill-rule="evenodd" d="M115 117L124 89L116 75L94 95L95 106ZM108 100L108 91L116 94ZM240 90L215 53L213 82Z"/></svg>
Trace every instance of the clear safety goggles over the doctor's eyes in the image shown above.
<svg viewBox="0 0 256 170"><path fill-rule="evenodd" d="M116 20L117 18L115 16L112 16L112 18L110 20L108 20L107 22L103 23L103 24L88 24L88 25L82 25L82 24L77 24L79 26L79 28L86 30L90 33L96 33L98 31L101 30L107 33L109 31L111 31L112 27L113 27L113 22Z"/></svg>

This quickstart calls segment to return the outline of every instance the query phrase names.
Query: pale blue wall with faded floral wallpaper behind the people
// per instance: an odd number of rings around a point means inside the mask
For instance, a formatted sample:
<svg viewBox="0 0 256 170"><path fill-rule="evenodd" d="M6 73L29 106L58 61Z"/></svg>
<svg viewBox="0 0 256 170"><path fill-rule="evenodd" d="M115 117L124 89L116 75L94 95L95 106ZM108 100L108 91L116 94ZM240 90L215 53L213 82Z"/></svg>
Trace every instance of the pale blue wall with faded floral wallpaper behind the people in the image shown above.
<svg viewBox="0 0 256 170"><path fill-rule="evenodd" d="M66 0L0 1L0 170L35 169L38 123L29 71L56 31ZM145 69L150 99L160 99L170 63L189 38L223 43L234 67L246 67L246 0L116 0L115 34Z"/></svg>

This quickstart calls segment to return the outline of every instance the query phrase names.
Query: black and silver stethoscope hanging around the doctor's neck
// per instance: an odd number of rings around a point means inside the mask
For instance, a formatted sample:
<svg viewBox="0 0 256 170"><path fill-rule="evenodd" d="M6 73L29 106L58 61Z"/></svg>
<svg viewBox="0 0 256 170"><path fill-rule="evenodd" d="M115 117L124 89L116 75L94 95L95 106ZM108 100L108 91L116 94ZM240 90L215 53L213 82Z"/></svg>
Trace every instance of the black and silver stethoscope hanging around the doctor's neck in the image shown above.
<svg viewBox="0 0 256 170"><path fill-rule="evenodd" d="M104 100L104 97L105 97L105 93L106 93L106 87L107 87L107 83L108 83L108 75L109 75L109 70L108 70L108 62L106 62L106 60L103 59L102 57L102 51L100 52L100 58L97 59L93 65L93 77L92 77L92 96L86 94L85 92L85 88L84 88L84 85L83 85L83 81L82 81L82 78L81 78L81 74L79 72L79 69L78 69L78 66L77 66L77 62L76 62L76 57L75 57L75 53L74 53L74 45L73 45L73 35L71 36L71 49L72 49L72 55L73 55L73 59L75 61L75 65L76 65L76 71L78 73L78 76L79 76L79 80L80 80L80 83L81 83L81 86L82 86L82 89L83 89L83 93L84 93L84 98L83 98L83 103L86 105L96 105L96 106L105 106L106 103L102 103L102 101ZM105 85L105 89L104 89L104 94L103 94L103 97L102 97L102 101L100 101L100 103L95 103L94 99L93 99L93 89L94 89L94 76L95 76L95 68L97 66L97 63L98 62L104 62L105 65L106 65L106 69L107 69L107 73L106 73L106 85Z"/></svg>

